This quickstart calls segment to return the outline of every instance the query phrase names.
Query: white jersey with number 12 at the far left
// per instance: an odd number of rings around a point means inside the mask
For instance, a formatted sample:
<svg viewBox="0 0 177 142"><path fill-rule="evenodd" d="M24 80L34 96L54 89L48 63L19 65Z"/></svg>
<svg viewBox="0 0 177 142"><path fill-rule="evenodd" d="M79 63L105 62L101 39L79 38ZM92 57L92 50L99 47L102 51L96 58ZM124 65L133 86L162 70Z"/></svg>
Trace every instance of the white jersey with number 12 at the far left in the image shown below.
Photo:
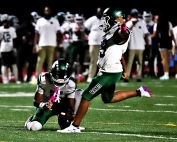
<svg viewBox="0 0 177 142"><path fill-rule="evenodd" d="M13 49L13 39L17 38L17 34L14 27L4 28L0 27L0 52L9 52Z"/></svg>

